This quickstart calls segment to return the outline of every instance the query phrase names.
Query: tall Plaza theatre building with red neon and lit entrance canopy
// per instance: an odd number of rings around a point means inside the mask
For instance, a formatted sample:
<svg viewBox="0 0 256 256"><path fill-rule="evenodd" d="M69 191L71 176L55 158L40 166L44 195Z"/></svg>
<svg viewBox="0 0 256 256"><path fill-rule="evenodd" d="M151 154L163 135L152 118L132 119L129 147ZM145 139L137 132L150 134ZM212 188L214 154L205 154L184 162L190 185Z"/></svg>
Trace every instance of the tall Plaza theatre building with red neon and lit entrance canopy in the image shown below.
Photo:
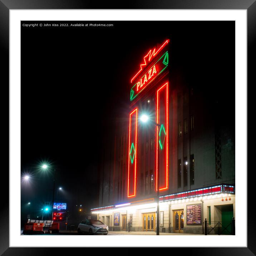
<svg viewBox="0 0 256 256"><path fill-rule="evenodd" d="M186 52L179 60L181 47L171 36L145 44L123 95L129 107L104 142L99 205L91 212L110 231L128 230L131 220L131 231L156 232L158 202L160 232L203 233L205 219L212 227L231 223L235 105L225 89L228 79L216 83L211 54L198 57L211 64L183 62Z"/></svg>

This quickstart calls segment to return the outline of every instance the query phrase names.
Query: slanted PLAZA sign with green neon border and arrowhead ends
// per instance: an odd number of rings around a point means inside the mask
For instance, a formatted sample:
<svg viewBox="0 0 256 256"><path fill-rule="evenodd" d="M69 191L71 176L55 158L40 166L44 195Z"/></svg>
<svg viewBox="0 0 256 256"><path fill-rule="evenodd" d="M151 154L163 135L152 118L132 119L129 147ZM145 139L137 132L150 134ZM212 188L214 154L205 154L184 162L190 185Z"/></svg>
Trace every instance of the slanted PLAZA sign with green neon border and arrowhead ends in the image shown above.
<svg viewBox="0 0 256 256"><path fill-rule="evenodd" d="M161 74L169 63L168 51L166 51L137 81L131 88L130 100L133 100L147 85L149 85L159 74Z"/></svg>

